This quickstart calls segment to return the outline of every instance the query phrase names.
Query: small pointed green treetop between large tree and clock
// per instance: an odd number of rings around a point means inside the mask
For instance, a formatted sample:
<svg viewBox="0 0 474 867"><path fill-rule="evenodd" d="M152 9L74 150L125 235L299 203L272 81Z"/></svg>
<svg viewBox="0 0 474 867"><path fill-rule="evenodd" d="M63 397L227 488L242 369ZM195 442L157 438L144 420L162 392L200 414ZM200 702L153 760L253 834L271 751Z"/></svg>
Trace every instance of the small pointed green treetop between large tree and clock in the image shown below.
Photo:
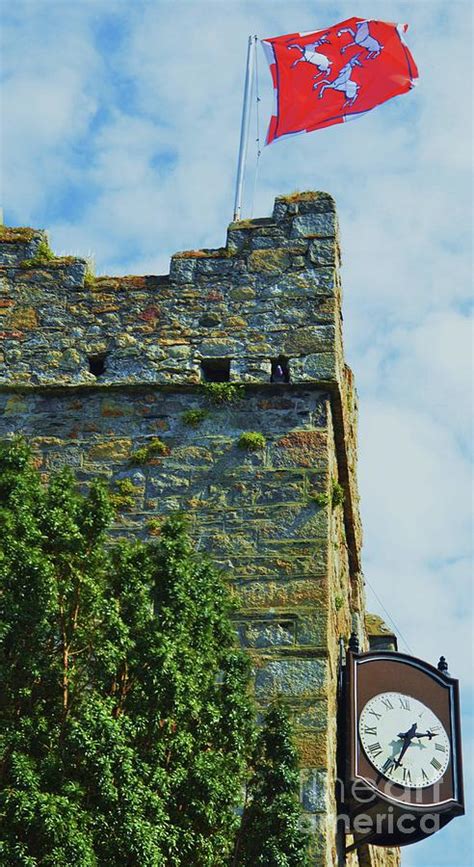
<svg viewBox="0 0 474 867"><path fill-rule="evenodd" d="M257 740L235 867L309 867L298 789L290 722L283 708L275 707L266 714Z"/></svg>

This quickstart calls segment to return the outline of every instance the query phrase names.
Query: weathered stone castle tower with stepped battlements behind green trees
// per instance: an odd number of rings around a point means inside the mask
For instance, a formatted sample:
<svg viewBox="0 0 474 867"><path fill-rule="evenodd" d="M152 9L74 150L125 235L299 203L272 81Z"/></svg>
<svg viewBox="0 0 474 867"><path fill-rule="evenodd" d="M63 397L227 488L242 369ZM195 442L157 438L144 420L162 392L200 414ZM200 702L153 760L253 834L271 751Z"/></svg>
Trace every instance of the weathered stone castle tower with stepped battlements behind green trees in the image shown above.
<svg viewBox="0 0 474 867"><path fill-rule="evenodd" d="M334 201L279 197L167 276L48 256L44 233L0 227L0 435L28 437L46 473L110 480L116 536L186 511L238 598L257 701L292 711L314 864L397 864L337 854L339 639L390 636L364 610Z"/></svg>

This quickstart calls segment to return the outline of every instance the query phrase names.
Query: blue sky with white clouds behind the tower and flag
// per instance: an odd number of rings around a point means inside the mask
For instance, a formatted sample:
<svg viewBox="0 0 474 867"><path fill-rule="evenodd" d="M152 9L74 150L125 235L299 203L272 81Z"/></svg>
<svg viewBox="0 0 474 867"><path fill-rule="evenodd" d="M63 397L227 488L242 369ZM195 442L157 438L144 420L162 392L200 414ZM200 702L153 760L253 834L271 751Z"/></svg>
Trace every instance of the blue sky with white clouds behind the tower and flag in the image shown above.
<svg viewBox="0 0 474 867"><path fill-rule="evenodd" d="M174 252L225 243L250 34L353 15L408 23L418 87L354 123L263 148L255 185L254 122L243 216L266 216L295 190L336 198L368 607L394 619L401 650L435 664L443 654L460 678L472 777L470 2L0 9L4 221L45 228L56 253L116 275L164 274ZM263 139L273 95L262 51L258 71ZM406 867L473 861L467 818L403 852Z"/></svg>

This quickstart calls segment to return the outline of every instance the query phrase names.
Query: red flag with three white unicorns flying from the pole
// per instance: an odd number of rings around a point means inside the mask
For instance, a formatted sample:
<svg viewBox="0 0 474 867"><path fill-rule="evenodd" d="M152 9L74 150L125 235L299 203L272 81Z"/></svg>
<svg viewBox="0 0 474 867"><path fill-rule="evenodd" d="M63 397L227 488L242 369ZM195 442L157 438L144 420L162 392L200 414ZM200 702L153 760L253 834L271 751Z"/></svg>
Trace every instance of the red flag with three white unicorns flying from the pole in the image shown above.
<svg viewBox="0 0 474 867"><path fill-rule="evenodd" d="M407 24L348 18L314 33L263 39L276 109L267 144L343 123L415 86Z"/></svg>

